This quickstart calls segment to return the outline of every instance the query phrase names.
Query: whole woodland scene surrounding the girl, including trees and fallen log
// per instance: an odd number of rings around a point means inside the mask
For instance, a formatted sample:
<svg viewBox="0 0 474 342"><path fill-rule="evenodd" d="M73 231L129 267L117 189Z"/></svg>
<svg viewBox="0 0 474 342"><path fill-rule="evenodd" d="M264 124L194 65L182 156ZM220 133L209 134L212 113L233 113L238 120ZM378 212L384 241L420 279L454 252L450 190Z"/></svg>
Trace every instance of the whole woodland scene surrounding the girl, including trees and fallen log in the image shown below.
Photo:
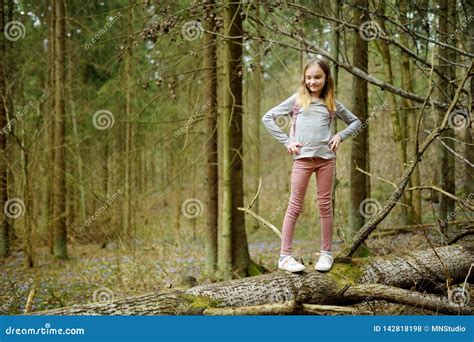
<svg viewBox="0 0 474 342"><path fill-rule="evenodd" d="M470 2L0 3L0 314L472 314ZM334 266L311 177L288 273L294 160L262 117L314 59L362 125Z"/></svg>

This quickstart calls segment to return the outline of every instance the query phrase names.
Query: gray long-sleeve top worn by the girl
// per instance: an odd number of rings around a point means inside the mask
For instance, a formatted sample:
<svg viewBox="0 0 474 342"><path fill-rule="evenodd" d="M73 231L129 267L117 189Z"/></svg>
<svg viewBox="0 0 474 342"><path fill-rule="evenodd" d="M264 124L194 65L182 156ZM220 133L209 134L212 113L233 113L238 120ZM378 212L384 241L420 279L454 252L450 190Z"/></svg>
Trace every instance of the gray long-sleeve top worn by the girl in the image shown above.
<svg viewBox="0 0 474 342"><path fill-rule="evenodd" d="M336 154L329 148L329 140L332 138L329 111L322 100L311 101L306 110L300 108L296 119L294 137L289 137L276 124L276 119L279 116L291 115L296 98L297 94L293 94L278 106L270 109L262 117L263 124L272 136L285 147L288 147L290 142L298 142L303 145L299 154L293 154L294 160L305 157L336 158ZM348 125L337 133L342 141L357 132L362 126L360 120L337 100L336 117Z"/></svg>

